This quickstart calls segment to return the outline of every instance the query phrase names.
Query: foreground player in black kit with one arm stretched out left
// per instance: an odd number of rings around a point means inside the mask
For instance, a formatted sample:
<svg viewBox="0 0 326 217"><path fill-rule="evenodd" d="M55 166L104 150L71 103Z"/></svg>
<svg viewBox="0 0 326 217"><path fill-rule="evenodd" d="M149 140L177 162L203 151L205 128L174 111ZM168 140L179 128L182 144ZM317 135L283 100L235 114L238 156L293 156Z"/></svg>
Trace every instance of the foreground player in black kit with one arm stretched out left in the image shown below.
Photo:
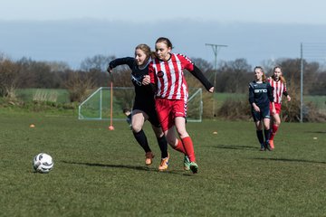
<svg viewBox="0 0 326 217"><path fill-rule="evenodd" d="M158 139L158 146L161 151L161 158L168 157L168 142L158 122L158 115L155 109L154 93L149 85L143 85L142 80L149 74L149 62L153 53L147 44L139 44L135 48L135 57L118 58L110 61L108 71L113 68L127 64L131 70L131 81L135 86L135 99L131 111L131 128L134 137L145 151L145 164L151 165L154 154L151 151L148 139L142 129L144 122L149 120Z"/></svg>

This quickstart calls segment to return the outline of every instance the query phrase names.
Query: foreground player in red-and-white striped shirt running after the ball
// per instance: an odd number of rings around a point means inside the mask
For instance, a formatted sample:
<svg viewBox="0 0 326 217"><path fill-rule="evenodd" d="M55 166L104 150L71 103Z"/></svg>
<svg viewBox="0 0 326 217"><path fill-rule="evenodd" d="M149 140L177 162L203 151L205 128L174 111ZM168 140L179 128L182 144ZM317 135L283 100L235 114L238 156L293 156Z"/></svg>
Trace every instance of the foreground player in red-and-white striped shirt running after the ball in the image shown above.
<svg viewBox="0 0 326 217"><path fill-rule="evenodd" d="M171 52L172 43L168 38L158 38L155 50L157 58L149 64L149 78L156 91L158 119L168 144L188 157L188 164L187 157L185 158L185 169L196 174L198 165L194 146L186 130L188 90L183 71L192 73L209 92L213 92L214 87L186 56ZM176 129L180 139L176 136ZM164 167L168 167L168 157L161 161L161 168Z"/></svg>

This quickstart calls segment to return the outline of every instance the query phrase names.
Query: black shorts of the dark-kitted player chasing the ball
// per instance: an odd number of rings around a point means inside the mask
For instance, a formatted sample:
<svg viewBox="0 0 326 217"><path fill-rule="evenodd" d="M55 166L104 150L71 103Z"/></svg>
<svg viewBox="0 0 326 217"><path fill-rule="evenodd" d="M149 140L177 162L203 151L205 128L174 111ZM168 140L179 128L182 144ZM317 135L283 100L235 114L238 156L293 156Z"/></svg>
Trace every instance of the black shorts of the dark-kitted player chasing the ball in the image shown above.
<svg viewBox="0 0 326 217"><path fill-rule="evenodd" d="M155 127L160 127L158 113L155 109L154 99L152 100L135 100L132 110L141 110L149 116L149 122Z"/></svg>

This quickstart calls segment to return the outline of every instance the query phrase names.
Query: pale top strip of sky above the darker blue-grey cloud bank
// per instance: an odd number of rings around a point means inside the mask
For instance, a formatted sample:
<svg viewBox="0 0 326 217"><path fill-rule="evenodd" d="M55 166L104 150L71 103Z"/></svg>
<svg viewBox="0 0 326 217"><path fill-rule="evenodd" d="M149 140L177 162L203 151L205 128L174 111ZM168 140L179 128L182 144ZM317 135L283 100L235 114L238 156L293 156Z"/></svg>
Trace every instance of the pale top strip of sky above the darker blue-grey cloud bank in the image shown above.
<svg viewBox="0 0 326 217"><path fill-rule="evenodd" d="M219 22L326 24L323 0L2 0L0 20L98 18L134 22L187 18Z"/></svg>

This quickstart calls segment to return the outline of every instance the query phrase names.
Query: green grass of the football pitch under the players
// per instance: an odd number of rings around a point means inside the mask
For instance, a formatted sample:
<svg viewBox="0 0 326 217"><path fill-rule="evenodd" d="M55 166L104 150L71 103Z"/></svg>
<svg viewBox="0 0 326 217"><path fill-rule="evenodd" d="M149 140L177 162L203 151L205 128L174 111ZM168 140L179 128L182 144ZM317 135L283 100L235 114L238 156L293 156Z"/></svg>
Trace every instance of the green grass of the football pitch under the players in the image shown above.
<svg viewBox="0 0 326 217"><path fill-rule="evenodd" d="M252 122L189 123L192 175L171 148L168 172L158 172L148 124L149 167L125 121L109 131L104 121L2 112L0 123L0 216L325 215L324 124L283 123L275 150L260 152ZM40 152L53 156L50 174L32 170Z"/></svg>

